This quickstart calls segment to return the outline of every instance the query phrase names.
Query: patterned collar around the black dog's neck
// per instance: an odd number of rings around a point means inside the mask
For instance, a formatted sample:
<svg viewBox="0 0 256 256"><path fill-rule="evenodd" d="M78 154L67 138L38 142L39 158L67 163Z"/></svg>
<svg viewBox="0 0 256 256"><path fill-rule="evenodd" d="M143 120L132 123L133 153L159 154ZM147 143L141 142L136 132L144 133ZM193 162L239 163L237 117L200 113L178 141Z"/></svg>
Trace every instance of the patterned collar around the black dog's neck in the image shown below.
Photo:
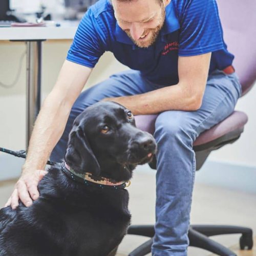
<svg viewBox="0 0 256 256"><path fill-rule="evenodd" d="M66 162L61 163L62 171L67 174L71 179L83 183L84 185L96 185L101 188L125 188L129 187L131 181L120 181L116 182L115 180L111 180L104 177L96 177L91 173L79 174L76 173Z"/></svg>

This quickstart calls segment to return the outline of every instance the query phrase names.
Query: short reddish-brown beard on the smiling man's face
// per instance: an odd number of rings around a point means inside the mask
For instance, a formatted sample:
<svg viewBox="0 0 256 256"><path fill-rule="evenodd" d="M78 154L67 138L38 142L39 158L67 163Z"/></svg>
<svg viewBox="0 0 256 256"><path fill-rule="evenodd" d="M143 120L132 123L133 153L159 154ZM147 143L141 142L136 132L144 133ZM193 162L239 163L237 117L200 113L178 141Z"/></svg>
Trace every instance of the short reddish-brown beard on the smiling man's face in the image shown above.
<svg viewBox="0 0 256 256"><path fill-rule="evenodd" d="M148 34L148 33L151 33L151 35L148 35L150 36L147 40L145 41L140 41L140 40L134 40L131 33L130 33L130 30L127 29L127 30L124 30L124 32L127 34L127 36L130 37L130 39L133 41L133 43L140 47L140 48L148 48L150 46L152 46L154 44L154 42L156 41L157 39L157 36L161 30L161 28L163 27L163 24L164 24L164 19L165 19L165 8L161 7L162 8L162 12L161 12L161 23L154 29L147 29L146 31L144 31L144 35Z"/></svg>

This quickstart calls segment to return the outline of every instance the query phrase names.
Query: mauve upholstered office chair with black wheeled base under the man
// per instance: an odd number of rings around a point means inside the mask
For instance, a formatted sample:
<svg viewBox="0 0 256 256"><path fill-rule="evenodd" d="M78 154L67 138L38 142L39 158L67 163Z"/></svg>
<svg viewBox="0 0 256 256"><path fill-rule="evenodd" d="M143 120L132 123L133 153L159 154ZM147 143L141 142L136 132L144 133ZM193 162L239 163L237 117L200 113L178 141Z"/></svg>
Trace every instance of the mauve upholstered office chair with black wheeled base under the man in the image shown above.
<svg viewBox="0 0 256 256"><path fill-rule="evenodd" d="M256 1L254 0L217 0L224 40L228 50L236 57L233 66L240 77L243 94L246 94L256 80ZM156 115L137 116L136 124L143 131L154 133ZM211 151L233 143L239 139L247 122L243 112L234 111L229 117L202 133L194 142L197 166L199 170ZM150 166L156 169L156 161ZM151 252L154 226L130 226L129 234L137 234L151 239L140 245L130 256L140 256ZM252 230L238 226L191 225L188 232L189 246L209 250L218 255L236 255L228 248L209 239L218 234L241 233L240 248L251 249Z"/></svg>

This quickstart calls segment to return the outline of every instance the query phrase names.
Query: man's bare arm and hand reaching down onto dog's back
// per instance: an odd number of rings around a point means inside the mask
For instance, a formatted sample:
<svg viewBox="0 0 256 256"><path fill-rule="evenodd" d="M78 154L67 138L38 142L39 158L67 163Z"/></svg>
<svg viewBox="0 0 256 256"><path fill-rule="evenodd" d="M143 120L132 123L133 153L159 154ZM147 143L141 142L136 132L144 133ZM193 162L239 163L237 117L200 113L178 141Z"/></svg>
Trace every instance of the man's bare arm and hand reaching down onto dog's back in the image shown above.
<svg viewBox="0 0 256 256"><path fill-rule="evenodd" d="M44 100L30 138L28 155L22 176L15 185L7 205L15 208L20 199L26 206L38 198L37 184L46 174L47 160L60 139L72 105L87 82L92 69L66 60L56 84Z"/></svg>

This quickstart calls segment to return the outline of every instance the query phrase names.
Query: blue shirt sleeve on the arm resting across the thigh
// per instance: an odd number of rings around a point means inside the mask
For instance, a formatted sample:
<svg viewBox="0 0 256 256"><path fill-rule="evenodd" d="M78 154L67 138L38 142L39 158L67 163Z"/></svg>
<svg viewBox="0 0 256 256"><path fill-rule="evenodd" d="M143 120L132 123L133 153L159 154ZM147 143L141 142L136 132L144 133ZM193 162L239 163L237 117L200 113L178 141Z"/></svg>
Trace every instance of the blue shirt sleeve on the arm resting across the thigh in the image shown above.
<svg viewBox="0 0 256 256"><path fill-rule="evenodd" d="M216 0L177 1L180 20L180 56L224 49Z"/></svg>

